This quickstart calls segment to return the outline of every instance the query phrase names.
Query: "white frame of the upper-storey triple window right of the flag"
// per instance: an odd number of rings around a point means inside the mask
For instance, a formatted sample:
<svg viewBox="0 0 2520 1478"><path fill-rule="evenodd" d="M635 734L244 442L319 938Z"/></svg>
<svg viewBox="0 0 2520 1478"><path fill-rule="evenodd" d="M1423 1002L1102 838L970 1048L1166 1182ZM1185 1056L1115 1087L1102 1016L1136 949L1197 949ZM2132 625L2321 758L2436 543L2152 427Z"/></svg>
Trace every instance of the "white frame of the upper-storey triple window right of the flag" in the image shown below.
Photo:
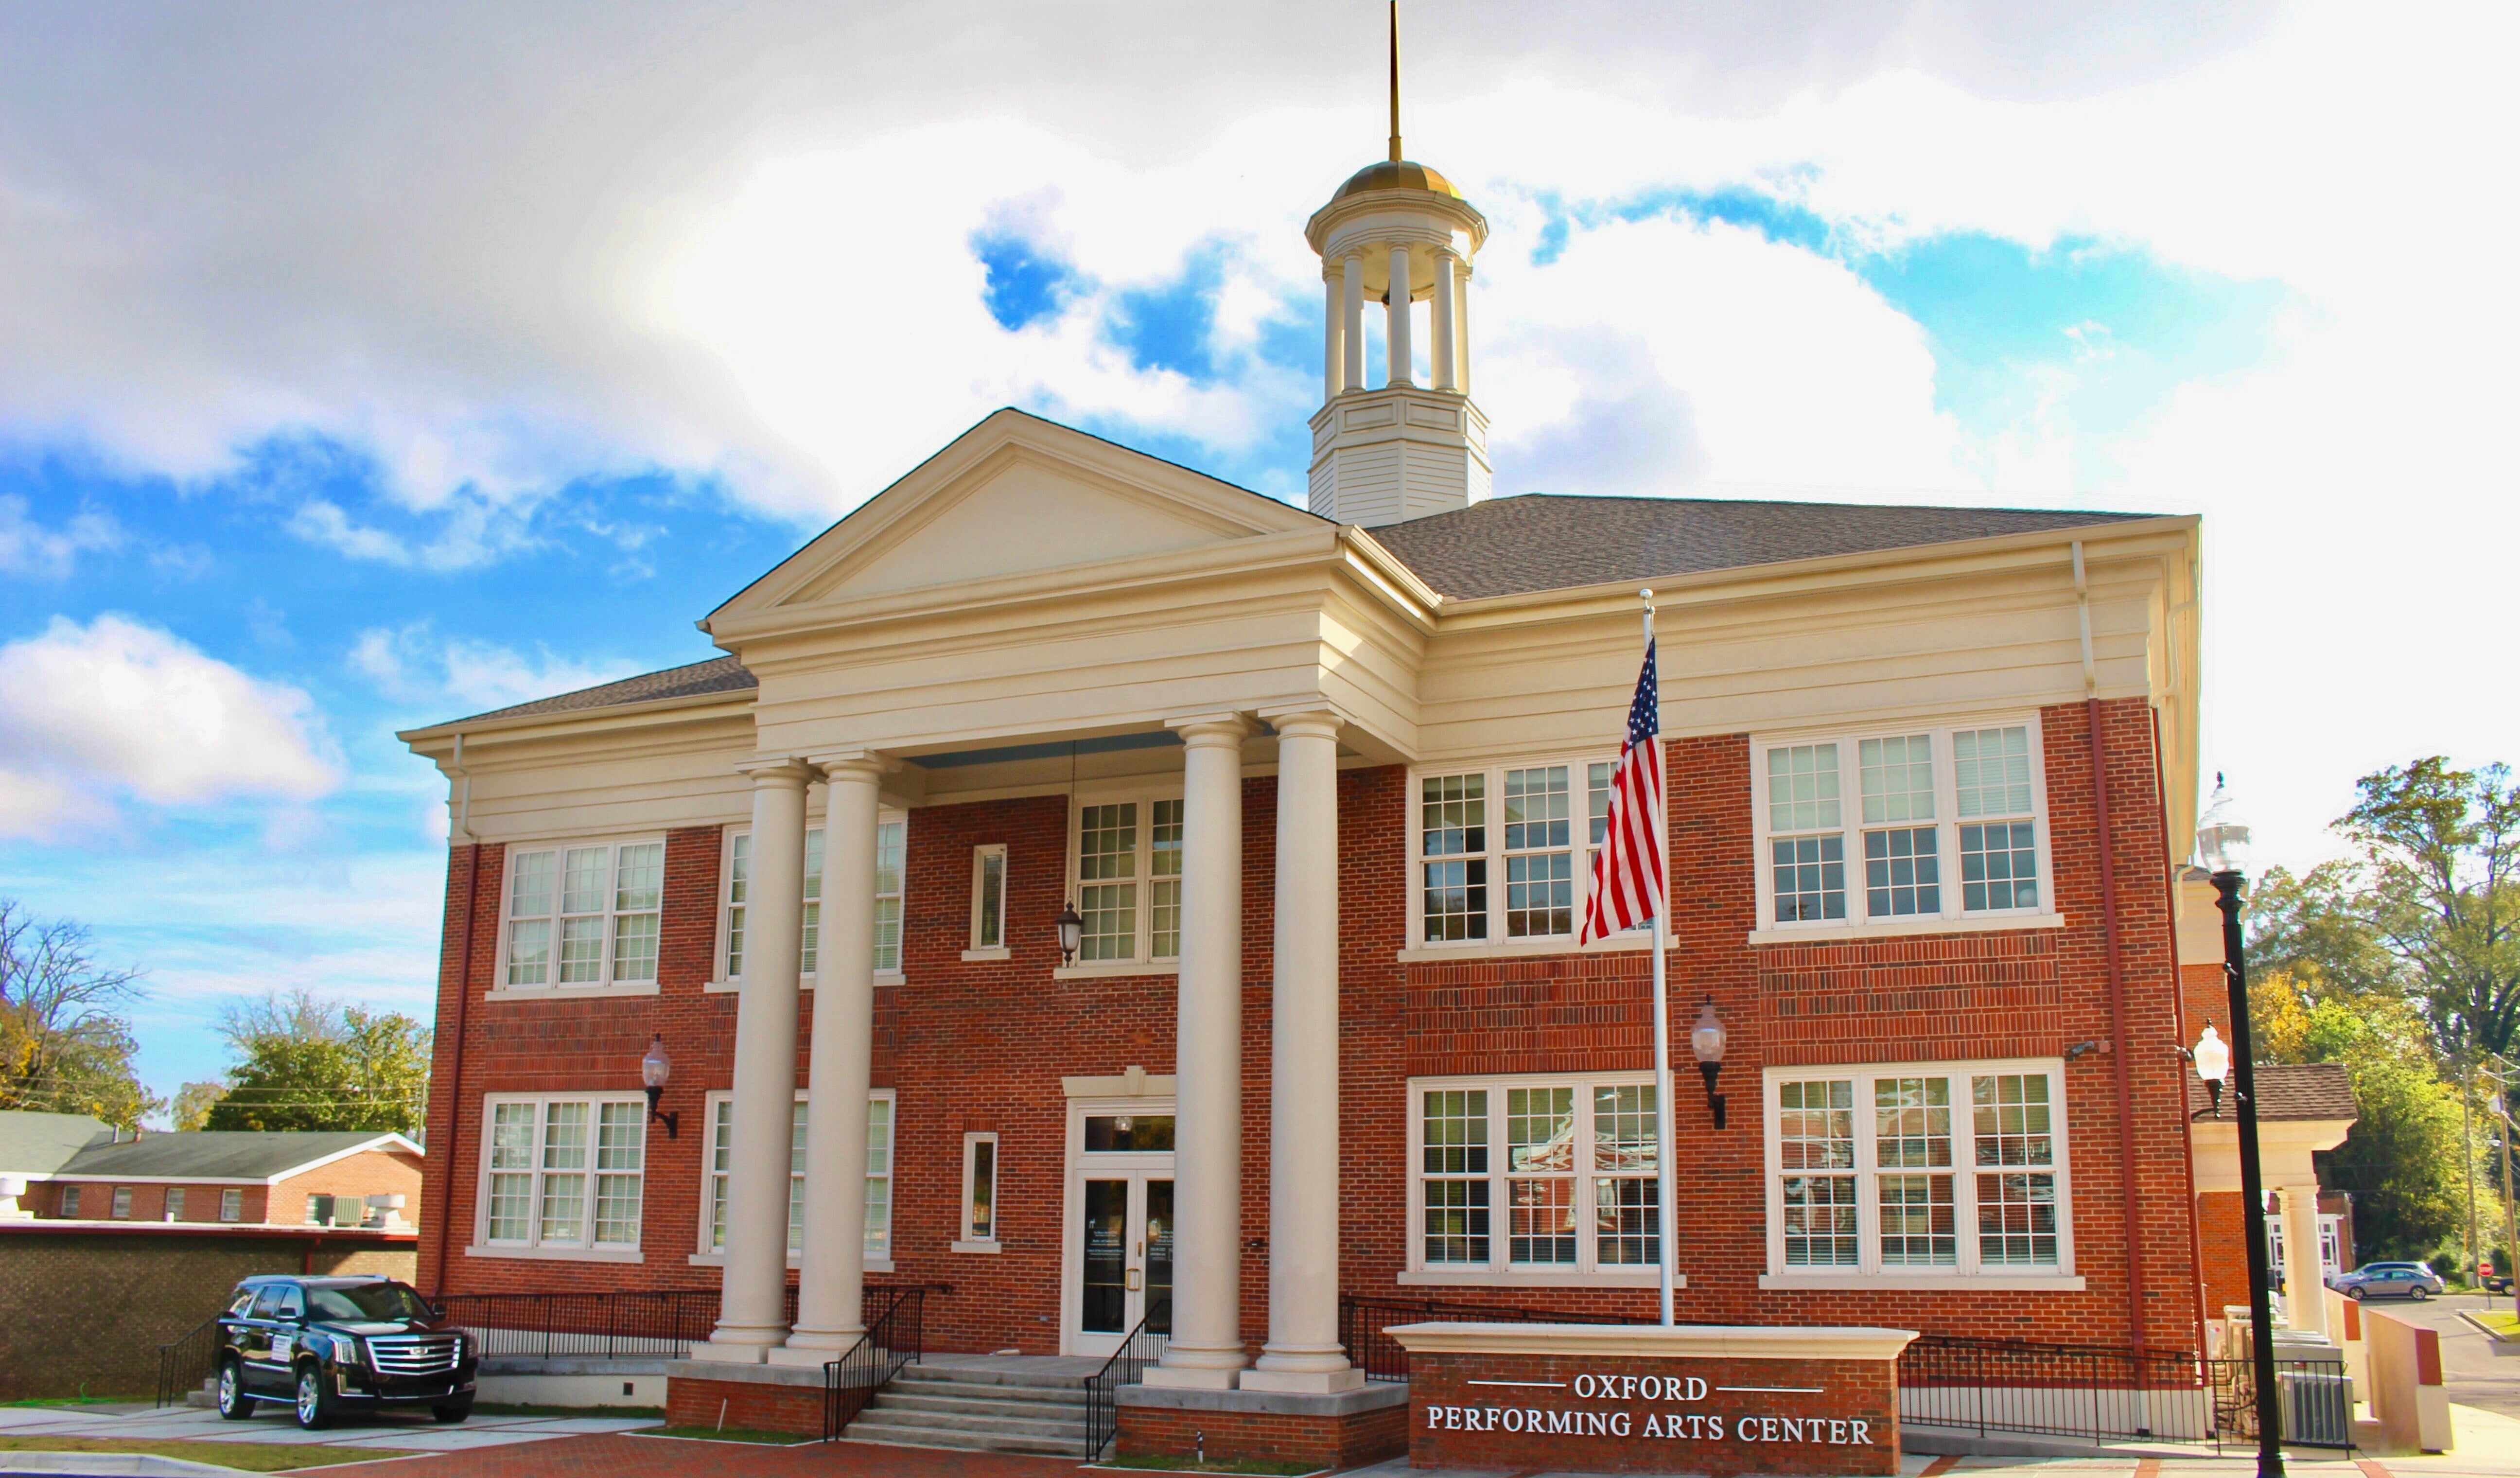
<svg viewBox="0 0 2520 1478"><path fill-rule="evenodd" d="M1958 772L1953 769L1956 754L1950 736L1961 729L2029 729L2031 752L2031 825L2039 832L2039 908L2003 908L1966 913L1961 908L1961 805L1958 805ZM1933 916L1903 913L1890 918L1865 916L1865 800L1862 800L1862 769L1860 769L1860 744L1865 739L1900 739L1908 734L1933 736L1933 830L1938 845L1938 870L1943 890L1943 911ZM1769 840L1777 835L1769 827L1767 810L1767 752L1794 744L1837 744L1837 794L1840 794L1840 835L1847 840L1847 918L1842 921L1779 921L1777 918L1777 870L1769 855ZM1910 724L1862 724L1862 726L1832 726L1832 729L1779 729L1769 734L1749 736L1749 784L1751 784L1751 827L1754 827L1754 863L1756 863L1756 893L1759 893L1759 918L1749 933L1749 943L1802 943L1817 938L1875 938L1875 936L1905 936L1905 933L1991 933L2006 928L2064 928L2066 918L2056 913L2056 858L2054 837L2049 827L2049 797L2046 797L2046 736L2039 729L2036 711L2001 711L2001 714L1958 714L1933 721ZM1809 832L1787 832L1809 835Z"/></svg>

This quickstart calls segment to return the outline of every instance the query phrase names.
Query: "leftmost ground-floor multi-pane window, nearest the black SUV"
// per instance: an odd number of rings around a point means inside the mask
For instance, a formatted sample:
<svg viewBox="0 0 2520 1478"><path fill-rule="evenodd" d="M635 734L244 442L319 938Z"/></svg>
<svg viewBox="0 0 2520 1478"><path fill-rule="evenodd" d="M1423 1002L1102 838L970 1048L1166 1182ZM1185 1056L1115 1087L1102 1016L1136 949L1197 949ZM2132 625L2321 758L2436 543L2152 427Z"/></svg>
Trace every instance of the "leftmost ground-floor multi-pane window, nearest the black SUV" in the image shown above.
<svg viewBox="0 0 2520 1478"><path fill-rule="evenodd" d="M645 1155L645 1100L491 1100L484 1241L635 1248Z"/></svg>

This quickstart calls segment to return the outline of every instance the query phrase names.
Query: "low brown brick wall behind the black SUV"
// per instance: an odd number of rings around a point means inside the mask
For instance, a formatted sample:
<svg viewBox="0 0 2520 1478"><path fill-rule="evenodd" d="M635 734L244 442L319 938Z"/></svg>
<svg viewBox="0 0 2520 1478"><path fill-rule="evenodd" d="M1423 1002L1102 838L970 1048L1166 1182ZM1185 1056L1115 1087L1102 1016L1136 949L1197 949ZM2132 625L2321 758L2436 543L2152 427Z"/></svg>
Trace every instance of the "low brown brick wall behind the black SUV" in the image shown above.
<svg viewBox="0 0 2520 1478"><path fill-rule="evenodd" d="M156 1347L224 1309L247 1274L408 1279L413 1251L219 1231L8 1231L0 1269L0 1400L149 1400Z"/></svg>

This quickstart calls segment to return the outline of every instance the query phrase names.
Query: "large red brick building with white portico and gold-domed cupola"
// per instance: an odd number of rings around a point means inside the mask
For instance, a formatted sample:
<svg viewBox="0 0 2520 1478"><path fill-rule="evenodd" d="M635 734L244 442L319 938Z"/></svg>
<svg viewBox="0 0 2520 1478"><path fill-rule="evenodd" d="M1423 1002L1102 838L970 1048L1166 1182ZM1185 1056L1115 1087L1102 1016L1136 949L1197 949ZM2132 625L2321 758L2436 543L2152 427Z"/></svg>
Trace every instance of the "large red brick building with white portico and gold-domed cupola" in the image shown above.
<svg viewBox="0 0 2520 1478"><path fill-rule="evenodd" d="M950 1284L948 1349L1169 1291L1149 1380L1338 1392L1341 1291L1648 1314L1668 1112L1681 1319L2197 1349L2197 520L1489 499L1484 222L1394 169L1315 217L1313 512L1000 411L731 656L403 734L454 822L426 1289L723 1279L701 1354L796 1365L869 1274ZM1575 941L1641 585L1668 1105L1648 938Z"/></svg>

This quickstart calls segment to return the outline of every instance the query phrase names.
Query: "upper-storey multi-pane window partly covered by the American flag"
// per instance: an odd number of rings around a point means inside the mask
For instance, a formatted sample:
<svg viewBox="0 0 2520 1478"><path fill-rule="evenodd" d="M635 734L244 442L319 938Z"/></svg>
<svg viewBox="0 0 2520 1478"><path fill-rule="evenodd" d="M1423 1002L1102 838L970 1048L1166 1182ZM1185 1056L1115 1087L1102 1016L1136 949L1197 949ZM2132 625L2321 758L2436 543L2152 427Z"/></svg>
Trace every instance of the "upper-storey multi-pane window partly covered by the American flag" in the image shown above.
<svg viewBox="0 0 2520 1478"><path fill-rule="evenodd" d="M1414 943L1572 941L1610 825L1610 769L1567 759L1419 774Z"/></svg>

